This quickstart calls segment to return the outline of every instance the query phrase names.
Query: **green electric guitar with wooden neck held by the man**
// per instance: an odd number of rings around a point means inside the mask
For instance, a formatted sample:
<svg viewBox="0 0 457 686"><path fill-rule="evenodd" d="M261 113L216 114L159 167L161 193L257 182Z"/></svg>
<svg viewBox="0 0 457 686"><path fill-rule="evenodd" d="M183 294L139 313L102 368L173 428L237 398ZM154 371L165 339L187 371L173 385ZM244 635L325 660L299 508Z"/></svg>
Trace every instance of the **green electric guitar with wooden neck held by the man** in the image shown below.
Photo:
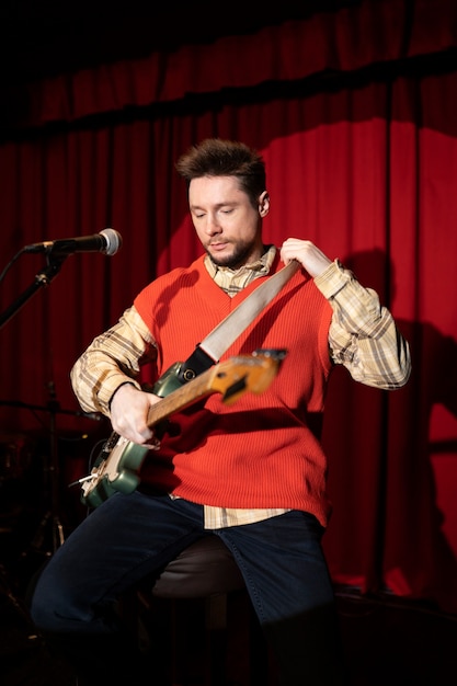
<svg viewBox="0 0 457 686"><path fill-rule="evenodd" d="M148 426L159 430L174 412L214 393L221 393L221 400L226 404L232 404L247 391L262 393L275 378L285 355L284 350L258 350L252 355L230 357L214 365L151 405ZM167 376L168 373L163 378ZM173 382L169 382L168 387L173 388ZM90 507L98 507L116 491L133 493L140 482L139 471L148 453L147 447L113 432L91 473L79 479L81 502Z"/></svg>

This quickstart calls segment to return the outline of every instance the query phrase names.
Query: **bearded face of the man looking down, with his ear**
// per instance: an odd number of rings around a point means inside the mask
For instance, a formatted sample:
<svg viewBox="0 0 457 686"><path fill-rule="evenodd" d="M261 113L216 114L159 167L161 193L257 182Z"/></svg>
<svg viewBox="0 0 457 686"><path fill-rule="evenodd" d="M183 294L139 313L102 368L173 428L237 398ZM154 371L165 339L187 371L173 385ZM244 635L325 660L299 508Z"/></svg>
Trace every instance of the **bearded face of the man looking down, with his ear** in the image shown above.
<svg viewBox="0 0 457 686"><path fill-rule="evenodd" d="M261 256L262 217L267 213L267 196L263 195L259 209L254 209L235 176L202 176L191 181L192 221L215 264L237 268Z"/></svg>

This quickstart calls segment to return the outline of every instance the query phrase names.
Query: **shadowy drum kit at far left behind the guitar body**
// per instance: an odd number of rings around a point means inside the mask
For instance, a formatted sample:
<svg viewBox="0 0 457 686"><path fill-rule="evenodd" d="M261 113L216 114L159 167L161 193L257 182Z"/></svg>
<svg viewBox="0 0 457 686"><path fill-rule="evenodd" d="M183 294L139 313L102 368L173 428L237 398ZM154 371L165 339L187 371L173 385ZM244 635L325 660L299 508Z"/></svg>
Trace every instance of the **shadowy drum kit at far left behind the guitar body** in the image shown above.
<svg viewBox="0 0 457 686"><path fill-rule="evenodd" d="M88 443L99 439L98 427L94 432L77 432L65 442L67 455L59 455L62 436L58 434L57 415L96 422L103 418L95 413L64 410L55 398L46 405L8 400L0 400L0 405L45 413L48 419L45 432L0 433L0 536L14 539L12 550L23 545L24 550L18 551L22 556L33 550L48 557L64 544L65 528L72 528L78 523L76 516L82 514L69 513L69 507L75 510L72 495L79 501L76 491L71 495L65 494L62 502L62 493L70 485L64 483L62 476L70 481L71 469L82 476L91 451ZM76 459L68 460L68 457ZM31 539L28 544L27 537Z"/></svg>

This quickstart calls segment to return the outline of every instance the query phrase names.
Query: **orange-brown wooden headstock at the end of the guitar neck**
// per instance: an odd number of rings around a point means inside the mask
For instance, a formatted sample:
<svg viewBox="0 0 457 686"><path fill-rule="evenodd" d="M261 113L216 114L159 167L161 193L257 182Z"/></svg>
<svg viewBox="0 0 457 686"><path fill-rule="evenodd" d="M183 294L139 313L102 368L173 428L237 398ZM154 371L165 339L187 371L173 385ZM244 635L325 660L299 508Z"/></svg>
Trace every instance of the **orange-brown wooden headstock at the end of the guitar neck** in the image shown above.
<svg viewBox="0 0 457 686"><path fill-rule="evenodd" d="M256 350L252 355L237 355L219 363L210 380L212 389L231 404L247 392L262 393L272 384L286 356L284 348Z"/></svg>

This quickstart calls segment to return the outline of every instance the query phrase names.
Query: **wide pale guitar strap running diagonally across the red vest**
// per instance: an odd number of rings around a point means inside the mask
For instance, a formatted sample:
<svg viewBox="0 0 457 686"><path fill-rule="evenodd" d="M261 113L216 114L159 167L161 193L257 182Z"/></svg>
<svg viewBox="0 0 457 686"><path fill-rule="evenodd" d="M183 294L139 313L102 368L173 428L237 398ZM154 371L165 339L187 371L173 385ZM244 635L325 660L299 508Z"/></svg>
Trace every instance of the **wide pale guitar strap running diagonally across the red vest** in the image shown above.
<svg viewBox="0 0 457 686"><path fill-rule="evenodd" d="M180 381L185 384L216 364L244 329L279 293L299 266L296 260L289 262L287 266L255 288L245 300L222 319L204 341L196 345L192 355L182 363L178 375Z"/></svg>

